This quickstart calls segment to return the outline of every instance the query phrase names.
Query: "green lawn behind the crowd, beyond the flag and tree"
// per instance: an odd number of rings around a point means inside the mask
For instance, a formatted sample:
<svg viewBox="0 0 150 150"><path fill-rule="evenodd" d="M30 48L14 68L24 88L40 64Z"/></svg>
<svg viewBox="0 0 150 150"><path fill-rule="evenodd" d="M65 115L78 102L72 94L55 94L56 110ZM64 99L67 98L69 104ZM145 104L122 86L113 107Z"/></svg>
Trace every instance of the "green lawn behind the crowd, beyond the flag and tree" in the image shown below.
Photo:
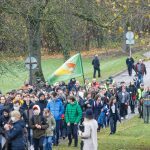
<svg viewBox="0 0 150 150"><path fill-rule="evenodd" d="M135 60L138 60L142 56L142 51L133 54ZM115 57L106 57L101 60L101 79L106 79L108 76L116 74L121 70L126 68L125 60L127 56L115 56ZM93 68L91 65L91 58L83 58L83 67L86 78L92 78ZM11 65L11 68L8 65L9 70L12 72L5 73L0 77L0 90L3 92L10 91L12 89L19 88L23 85L24 81L28 79L28 70L25 68L23 62L18 62L21 69L15 69L16 67ZM42 60L42 68L44 72L45 79L53 73L61 64L63 59L45 59ZM82 81L82 78L78 78Z"/></svg>

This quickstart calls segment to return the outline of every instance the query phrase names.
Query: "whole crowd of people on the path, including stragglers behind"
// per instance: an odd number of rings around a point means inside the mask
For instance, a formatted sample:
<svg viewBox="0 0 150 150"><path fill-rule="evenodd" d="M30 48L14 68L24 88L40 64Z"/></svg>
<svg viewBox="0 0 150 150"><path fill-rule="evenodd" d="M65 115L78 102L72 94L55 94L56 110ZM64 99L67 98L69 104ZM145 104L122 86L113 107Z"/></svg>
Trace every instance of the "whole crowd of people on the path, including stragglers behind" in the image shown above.
<svg viewBox="0 0 150 150"><path fill-rule="evenodd" d="M95 60L100 77L97 56ZM97 132L110 127L110 135L115 134L117 121L136 108L143 117L143 99L150 95L150 87L139 77L142 68L141 62L135 66L137 75L129 85L112 77L105 82L85 79L84 85L75 78L54 85L37 79L36 85L25 82L18 90L0 93L0 150L52 150L66 138L68 146L78 147L78 136L81 149L97 150Z"/></svg>

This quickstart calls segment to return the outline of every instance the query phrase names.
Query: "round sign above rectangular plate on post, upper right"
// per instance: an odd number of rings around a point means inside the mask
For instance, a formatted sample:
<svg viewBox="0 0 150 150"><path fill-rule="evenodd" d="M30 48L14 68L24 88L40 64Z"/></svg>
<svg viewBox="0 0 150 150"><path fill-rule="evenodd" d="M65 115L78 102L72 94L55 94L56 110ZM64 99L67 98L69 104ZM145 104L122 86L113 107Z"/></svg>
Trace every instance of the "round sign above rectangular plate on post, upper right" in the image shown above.
<svg viewBox="0 0 150 150"><path fill-rule="evenodd" d="M130 57L132 56L132 51L131 51L131 44L134 44L134 33L132 31L128 31L126 33L126 44L129 45L130 49Z"/></svg>

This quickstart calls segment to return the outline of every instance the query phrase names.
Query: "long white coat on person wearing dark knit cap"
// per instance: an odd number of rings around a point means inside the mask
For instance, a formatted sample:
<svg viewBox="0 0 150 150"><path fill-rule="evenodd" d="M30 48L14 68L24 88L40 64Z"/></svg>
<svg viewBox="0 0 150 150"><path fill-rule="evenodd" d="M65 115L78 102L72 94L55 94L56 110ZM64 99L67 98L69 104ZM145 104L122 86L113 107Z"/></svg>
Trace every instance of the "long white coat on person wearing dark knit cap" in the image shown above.
<svg viewBox="0 0 150 150"><path fill-rule="evenodd" d="M84 141L83 150L97 150L97 121L95 119L85 120L84 127L84 132L81 134Z"/></svg>

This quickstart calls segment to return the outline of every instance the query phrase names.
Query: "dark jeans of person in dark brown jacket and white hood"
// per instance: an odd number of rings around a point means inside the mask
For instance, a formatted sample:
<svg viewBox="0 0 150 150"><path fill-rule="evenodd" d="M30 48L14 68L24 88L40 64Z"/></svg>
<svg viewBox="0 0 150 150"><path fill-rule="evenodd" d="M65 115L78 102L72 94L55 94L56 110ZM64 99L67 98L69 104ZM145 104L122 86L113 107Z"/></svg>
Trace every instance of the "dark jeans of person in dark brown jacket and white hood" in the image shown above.
<svg viewBox="0 0 150 150"><path fill-rule="evenodd" d="M44 143L44 140L45 140L45 137L42 136L41 138L39 139L35 139L33 138L33 145L34 145L34 150L44 150L44 147L45 147L45 143Z"/></svg>

